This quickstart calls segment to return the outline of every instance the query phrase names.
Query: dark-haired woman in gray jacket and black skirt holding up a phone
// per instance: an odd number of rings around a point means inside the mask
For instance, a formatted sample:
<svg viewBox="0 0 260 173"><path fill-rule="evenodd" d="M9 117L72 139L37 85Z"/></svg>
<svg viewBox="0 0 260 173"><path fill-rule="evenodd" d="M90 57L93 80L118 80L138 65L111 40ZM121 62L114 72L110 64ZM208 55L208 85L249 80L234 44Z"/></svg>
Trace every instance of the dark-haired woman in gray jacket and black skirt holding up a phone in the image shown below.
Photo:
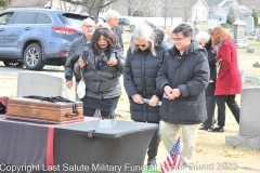
<svg viewBox="0 0 260 173"><path fill-rule="evenodd" d="M123 54L118 41L108 28L98 28L92 38L87 59L79 58L75 72L81 74L86 83L83 115L93 117L96 109L101 116L112 118L121 95L119 76L123 70Z"/></svg>

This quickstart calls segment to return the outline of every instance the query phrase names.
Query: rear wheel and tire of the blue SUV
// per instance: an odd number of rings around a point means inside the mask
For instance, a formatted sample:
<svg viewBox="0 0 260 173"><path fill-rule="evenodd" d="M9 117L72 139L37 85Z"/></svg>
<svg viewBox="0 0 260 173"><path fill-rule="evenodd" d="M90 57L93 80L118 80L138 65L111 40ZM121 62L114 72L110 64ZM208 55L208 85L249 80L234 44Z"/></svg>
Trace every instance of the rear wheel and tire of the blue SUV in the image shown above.
<svg viewBox="0 0 260 173"><path fill-rule="evenodd" d="M44 67L42 63L42 50L37 43L29 44L24 52L24 64L27 69L41 70Z"/></svg>

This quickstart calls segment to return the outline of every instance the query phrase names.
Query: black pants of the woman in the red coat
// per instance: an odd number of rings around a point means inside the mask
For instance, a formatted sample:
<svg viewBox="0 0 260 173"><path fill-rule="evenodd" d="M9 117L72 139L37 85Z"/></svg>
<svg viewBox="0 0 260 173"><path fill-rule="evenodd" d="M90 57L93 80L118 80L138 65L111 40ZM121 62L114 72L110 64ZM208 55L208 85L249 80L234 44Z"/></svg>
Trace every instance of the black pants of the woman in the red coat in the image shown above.
<svg viewBox="0 0 260 173"><path fill-rule="evenodd" d="M217 95L216 97L218 105L218 125L225 125L225 103L231 109L233 116L235 117L236 122L239 124L240 108L235 101L235 95Z"/></svg>

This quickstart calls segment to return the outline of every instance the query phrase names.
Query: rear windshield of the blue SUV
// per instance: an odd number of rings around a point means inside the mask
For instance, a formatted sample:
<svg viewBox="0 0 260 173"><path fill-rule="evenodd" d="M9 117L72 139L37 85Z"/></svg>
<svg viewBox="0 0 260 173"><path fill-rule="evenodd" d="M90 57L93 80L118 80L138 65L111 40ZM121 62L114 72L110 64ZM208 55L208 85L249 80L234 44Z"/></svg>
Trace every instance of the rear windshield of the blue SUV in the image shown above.
<svg viewBox="0 0 260 173"><path fill-rule="evenodd" d="M62 22L66 25L75 26L81 28L82 21L88 18L87 15L74 14L74 13L64 13L60 15Z"/></svg>

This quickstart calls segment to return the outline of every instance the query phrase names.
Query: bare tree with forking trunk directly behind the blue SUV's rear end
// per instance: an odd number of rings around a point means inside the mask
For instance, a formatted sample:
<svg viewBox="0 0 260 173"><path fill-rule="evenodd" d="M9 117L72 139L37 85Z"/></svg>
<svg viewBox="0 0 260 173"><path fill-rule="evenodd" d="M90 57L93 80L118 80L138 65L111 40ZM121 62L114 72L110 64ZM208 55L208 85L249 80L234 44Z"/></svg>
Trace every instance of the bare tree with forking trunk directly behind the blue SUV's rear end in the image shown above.
<svg viewBox="0 0 260 173"><path fill-rule="evenodd" d="M108 6L109 4L116 2L117 0L80 0L80 1L62 0L62 1L87 8L89 15L94 16L94 21L98 22L100 11Z"/></svg>

